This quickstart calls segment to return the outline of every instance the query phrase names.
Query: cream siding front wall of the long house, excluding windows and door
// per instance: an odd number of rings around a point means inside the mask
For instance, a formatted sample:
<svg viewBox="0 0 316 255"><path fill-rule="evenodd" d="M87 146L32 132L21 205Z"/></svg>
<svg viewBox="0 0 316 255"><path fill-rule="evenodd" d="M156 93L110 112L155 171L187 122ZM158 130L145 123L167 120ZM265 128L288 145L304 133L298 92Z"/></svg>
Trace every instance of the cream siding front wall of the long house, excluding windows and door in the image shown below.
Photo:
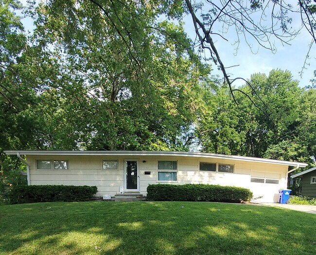
<svg viewBox="0 0 316 255"><path fill-rule="evenodd" d="M69 170L37 170L36 160L68 160ZM103 160L118 160L118 170L103 170ZM218 184L249 188L255 201L278 202L279 189L286 188L288 167L277 164L215 159L205 157L179 156L44 156L28 155L30 185L88 185L97 186L96 196L110 194L112 197L124 189L126 160L137 160L139 168L140 193L146 196L149 184ZM158 181L158 160L177 161L177 180ZM200 162L230 164L233 173L199 170ZM145 174L146 172L146 174ZM148 174L150 172L150 174ZM253 179L278 180L278 184L251 182Z"/></svg>

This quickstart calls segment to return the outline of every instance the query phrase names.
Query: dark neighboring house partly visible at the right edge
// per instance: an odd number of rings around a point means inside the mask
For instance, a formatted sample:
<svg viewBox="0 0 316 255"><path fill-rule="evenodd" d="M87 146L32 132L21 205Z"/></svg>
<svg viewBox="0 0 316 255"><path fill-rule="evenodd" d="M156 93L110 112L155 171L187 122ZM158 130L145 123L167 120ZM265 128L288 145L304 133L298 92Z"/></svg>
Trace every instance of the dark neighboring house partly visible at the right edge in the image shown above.
<svg viewBox="0 0 316 255"><path fill-rule="evenodd" d="M316 167L294 174L292 178L301 178L301 195L316 198Z"/></svg>

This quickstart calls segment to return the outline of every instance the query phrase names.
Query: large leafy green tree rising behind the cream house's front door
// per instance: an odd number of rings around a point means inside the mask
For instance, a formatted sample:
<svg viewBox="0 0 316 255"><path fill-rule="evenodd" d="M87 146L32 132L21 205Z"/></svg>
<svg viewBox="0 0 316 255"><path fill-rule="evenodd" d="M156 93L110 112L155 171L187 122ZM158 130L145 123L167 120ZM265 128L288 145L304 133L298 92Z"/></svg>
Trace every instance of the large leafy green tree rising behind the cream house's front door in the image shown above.
<svg viewBox="0 0 316 255"><path fill-rule="evenodd" d="M190 50L181 24L158 21L159 5L109 6L56 0L29 11L32 41L56 73L34 114L42 148L188 150L210 67Z"/></svg>

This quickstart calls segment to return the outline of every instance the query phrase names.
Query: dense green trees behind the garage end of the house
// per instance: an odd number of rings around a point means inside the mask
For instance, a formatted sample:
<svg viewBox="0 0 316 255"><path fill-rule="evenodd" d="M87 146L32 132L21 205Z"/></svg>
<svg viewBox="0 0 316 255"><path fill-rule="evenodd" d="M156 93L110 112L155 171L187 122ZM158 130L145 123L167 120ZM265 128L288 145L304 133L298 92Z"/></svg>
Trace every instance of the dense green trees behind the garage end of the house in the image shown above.
<svg viewBox="0 0 316 255"><path fill-rule="evenodd" d="M203 151L312 163L311 91L299 88L291 73L282 70L253 74L249 83L252 88L239 89L256 97L250 101L244 93L235 94L238 105L228 86L206 90L208 115L201 115L197 126ZM253 103L265 108L272 121Z"/></svg>

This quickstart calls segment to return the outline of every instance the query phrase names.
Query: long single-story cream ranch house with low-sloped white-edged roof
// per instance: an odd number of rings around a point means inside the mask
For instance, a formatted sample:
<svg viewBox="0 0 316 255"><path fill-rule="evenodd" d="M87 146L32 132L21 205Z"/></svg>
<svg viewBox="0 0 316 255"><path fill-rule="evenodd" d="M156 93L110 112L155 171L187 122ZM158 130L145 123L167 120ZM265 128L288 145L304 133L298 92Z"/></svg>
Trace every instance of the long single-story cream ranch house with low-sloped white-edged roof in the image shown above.
<svg viewBox="0 0 316 255"><path fill-rule="evenodd" d="M279 200L288 173L307 164L196 152L4 151L26 155L29 185L97 186L96 196L135 192L148 184L218 184L249 188L258 202ZM289 167L294 169L289 171Z"/></svg>

